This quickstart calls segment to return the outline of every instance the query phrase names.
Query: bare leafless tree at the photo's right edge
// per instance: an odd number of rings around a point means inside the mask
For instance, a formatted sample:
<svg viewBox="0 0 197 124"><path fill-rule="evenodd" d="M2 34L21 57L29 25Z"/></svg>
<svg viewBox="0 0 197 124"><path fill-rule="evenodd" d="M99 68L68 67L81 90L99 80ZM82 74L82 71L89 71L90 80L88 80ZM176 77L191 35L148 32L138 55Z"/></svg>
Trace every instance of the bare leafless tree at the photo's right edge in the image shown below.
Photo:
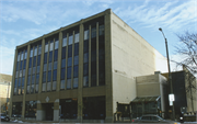
<svg viewBox="0 0 197 124"><path fill-rule="evenodd" d="M175 61L176 66L182 66L185 71L185 90L188 98L187 103L192 106L189 110L194 112L197 91L197 33L185 32L183 35L176 34L179 44L175 46L176 54L179 55L181 61ZM173 60L174 61L174 60ZM189 101L189 102L188 102Z"/></svg>

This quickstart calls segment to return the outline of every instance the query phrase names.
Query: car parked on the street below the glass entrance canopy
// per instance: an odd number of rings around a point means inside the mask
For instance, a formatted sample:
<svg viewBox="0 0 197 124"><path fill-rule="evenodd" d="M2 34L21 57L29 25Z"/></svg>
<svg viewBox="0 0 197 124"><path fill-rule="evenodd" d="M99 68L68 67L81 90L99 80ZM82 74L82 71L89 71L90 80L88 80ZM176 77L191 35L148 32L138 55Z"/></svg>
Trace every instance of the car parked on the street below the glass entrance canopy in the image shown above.
<svg viewBox="0 0 197 124"><path fill-rule="evenodd" d="M132 123L174 123L174 124L178 124L178 122L167 121L158 115L151 115L151 114L142 115L139 119L132 120Z"/></svg>

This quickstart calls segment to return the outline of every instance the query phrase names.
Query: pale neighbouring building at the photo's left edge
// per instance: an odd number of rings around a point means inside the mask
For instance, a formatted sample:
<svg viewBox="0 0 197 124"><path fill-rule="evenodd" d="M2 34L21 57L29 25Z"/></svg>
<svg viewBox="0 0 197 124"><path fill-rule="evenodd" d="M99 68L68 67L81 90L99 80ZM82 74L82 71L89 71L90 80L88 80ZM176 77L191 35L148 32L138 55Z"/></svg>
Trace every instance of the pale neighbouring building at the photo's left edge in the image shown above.
<svg viewBox="0 0 197 124"><path fill-rule="evenodd" d="M9 112L9 100L12 86L12 76L0 74L0 106L1 113Z"/></svg>

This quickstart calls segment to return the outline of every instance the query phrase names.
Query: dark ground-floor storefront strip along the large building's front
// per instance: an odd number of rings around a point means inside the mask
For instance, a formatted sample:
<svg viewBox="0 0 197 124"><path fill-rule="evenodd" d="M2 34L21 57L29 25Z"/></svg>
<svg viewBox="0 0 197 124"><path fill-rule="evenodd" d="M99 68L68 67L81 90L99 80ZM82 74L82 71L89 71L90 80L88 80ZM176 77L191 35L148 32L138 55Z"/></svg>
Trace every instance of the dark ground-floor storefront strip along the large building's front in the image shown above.
<svg viewBox="0 0 197 124"><path fill-rule="evenodd" d="M102 97L83 97L82 105L77 98L56 99L54 102L25 101L12 103L12 117L53 122L104 122L106 117L106 100ZM25 108L23 108L25 105ZM81 108L82 106L82 108ZM23 110L24 109L24 110ZM79 112L82 111L82 117ZM24 116L24 117L23 117Z"/></svg>

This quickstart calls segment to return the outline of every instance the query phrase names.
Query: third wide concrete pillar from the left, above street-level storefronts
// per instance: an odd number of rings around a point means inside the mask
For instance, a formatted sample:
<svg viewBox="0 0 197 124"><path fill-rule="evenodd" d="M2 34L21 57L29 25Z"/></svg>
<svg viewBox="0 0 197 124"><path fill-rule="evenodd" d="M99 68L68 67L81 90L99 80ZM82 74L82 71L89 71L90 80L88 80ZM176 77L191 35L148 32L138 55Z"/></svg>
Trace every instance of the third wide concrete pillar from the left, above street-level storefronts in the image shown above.
<svg viewBox="0 0 197 124"><path fill-rule="evenodd" d="M39 67L38 93L42 93L44 55L45 55L45 36L43 36L43 40L42 40L42 55L40 55L40 67Z"/></svg>

